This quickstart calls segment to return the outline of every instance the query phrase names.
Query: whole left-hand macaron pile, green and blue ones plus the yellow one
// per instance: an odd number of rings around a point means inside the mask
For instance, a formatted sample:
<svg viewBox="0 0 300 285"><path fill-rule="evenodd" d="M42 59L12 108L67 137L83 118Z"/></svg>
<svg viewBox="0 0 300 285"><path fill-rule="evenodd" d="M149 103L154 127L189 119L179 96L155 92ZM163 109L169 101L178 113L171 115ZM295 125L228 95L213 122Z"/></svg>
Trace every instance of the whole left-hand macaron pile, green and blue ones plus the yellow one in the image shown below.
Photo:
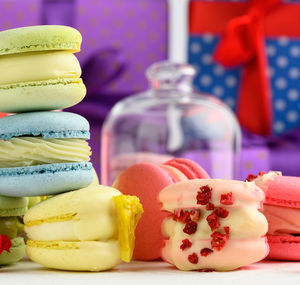
<svg viewBox="0 0 300 285"><path fill-rule="evenodd" d="M53 196L18 213L25 213L30 259L50 268L100 271L130 261L143 209L137 197L98 185L88 121L55 111L86 94L73 55L80 44L80 33L65 26L0 32L0 71L6 71L0 112L17 113L0 119L0 195L16 201L31 196L30 204L40 200L32 196ZM0 263L16 243L13 221L13 233L0 221Z"/></svg>

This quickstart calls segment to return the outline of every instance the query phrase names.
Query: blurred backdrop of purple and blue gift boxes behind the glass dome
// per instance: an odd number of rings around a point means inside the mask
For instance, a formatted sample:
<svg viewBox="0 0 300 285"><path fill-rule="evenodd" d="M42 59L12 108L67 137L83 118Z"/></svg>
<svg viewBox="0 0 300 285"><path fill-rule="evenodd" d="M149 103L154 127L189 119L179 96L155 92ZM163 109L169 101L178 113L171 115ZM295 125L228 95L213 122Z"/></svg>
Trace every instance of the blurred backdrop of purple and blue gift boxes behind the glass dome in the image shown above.
<svg viewBox="0 0 300 285"><path fill-rule="evenodd" d="M195 88L237 114L241 179L300 176L300 0L0 0L0 31L49 24L83 36L88 93L69 111L90 121L98 172L112 106L148 89L146 69L169 59L193 65Z"/></svg>

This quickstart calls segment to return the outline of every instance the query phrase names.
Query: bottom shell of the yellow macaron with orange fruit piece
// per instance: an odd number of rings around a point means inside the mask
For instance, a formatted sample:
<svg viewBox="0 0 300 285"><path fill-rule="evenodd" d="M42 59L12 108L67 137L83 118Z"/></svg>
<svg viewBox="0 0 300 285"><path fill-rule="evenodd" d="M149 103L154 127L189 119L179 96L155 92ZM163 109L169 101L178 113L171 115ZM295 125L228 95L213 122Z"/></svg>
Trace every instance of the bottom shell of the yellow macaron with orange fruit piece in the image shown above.
<svg viewBox="0 0 300 285"><path fill-rule="evenodd" d="M121 263L118 241L39 243L29 240L26 253L36 263L61 270L102 271Z"/></svg>

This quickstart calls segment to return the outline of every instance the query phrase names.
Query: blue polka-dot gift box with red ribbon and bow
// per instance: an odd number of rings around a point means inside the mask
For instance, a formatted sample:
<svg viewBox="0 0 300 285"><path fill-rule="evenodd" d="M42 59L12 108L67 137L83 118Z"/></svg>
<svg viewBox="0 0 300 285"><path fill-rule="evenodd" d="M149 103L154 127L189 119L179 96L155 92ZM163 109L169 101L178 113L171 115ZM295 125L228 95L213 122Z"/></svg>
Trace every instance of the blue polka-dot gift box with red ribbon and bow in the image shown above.
<svg viewBox="0 0 300 285"><path fill-rule="evenodd" d="M262 135L300 126L300 0L192 0L189 63L196 87Z"/></svg>

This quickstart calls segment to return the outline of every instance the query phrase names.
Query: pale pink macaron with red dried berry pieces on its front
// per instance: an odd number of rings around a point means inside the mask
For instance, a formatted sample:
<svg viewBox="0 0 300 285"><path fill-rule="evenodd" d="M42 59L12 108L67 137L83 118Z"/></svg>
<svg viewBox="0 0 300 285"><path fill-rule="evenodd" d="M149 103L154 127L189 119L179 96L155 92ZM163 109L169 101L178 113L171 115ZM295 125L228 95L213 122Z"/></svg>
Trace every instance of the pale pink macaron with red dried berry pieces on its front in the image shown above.
<svg viewBox="0 0 300 285"><path fill-rule="evenodd" d="M268 223L259 211L265 196L254 183L194 179L160 191L162 257L180 270L228 271L269 252Z"/></svg>

